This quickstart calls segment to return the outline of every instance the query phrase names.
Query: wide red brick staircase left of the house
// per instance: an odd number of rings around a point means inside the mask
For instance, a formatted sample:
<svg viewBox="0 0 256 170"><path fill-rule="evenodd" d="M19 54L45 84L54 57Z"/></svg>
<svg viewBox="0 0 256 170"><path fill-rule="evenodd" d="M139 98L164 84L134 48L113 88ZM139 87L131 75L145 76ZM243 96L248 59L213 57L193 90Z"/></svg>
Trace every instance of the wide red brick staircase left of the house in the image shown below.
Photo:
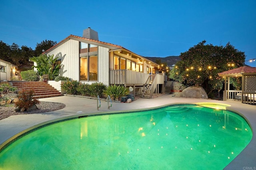
<svg viewBox="0 0 256 170"><path fill-rule="evenodd" d="M63 96L61 92L46 82L17 81L12 82L12 86L19 88L20 90L34 90L34 99Z"/></svg>

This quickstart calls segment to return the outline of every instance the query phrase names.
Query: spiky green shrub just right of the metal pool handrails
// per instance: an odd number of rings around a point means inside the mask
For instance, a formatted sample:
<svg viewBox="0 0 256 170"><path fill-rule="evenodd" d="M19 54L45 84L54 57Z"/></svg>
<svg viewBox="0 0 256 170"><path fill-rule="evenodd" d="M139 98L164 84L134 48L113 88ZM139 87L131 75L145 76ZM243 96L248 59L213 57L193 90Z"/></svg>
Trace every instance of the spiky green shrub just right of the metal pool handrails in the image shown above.
<svg viewBox="0 0 256 170"><path fill-rule="evenodd" d="M104 90L103 94L106 96L109 95L114 100L120 100L122 96L130 94L130 92L125 86L116 86L116 84L114 84L113 86L108 86L108 88Z"/></svg>

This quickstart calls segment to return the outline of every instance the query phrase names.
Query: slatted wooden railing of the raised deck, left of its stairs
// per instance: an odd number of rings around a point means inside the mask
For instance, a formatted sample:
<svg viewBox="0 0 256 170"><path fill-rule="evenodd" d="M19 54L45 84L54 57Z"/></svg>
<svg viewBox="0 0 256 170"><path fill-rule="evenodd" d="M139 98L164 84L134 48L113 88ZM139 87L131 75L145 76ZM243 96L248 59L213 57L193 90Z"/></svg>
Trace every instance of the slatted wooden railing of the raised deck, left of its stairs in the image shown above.
<svg viewBox="0 0 256 170"><path fill-rule="evenodd" d="M149 74L132 70L110 70L110 84L145 84Z"/></svg>

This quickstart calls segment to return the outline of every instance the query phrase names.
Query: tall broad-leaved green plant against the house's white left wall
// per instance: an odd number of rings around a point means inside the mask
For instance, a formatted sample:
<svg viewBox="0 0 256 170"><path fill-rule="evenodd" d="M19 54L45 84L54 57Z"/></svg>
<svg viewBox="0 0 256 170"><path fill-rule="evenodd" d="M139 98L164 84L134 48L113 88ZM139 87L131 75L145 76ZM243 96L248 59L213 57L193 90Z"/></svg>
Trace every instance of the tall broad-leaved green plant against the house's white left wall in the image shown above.
<svg viewBox="0 0 256 170"><path fill-rule="evenodd" d="M49 80L54 80L56 76L59 75L59 70L61 64L58 64L60 57L54 57L54 55L42 54L39 57L31 57L30 61L37 63L37 66L32 66L32 68L37 68L38 74L40 76L48 74Z"/></svg>

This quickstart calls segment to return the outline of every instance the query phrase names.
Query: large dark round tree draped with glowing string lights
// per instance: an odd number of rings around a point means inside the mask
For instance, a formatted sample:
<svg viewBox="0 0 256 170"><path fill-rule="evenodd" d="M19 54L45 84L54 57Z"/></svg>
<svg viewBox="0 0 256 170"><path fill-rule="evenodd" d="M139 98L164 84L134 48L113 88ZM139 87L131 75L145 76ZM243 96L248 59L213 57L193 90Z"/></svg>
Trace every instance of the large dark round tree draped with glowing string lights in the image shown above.
<svg viewBox="0 0 256 170"><path fill-rule="evenodd" d="M230 43L225 47L205 43L202 41L181 53L181 61L176 63L169 77L186 86L202 86L209 95L213 90L222 89L223 78L218 73L242 66L245 55Z"/></svg>

